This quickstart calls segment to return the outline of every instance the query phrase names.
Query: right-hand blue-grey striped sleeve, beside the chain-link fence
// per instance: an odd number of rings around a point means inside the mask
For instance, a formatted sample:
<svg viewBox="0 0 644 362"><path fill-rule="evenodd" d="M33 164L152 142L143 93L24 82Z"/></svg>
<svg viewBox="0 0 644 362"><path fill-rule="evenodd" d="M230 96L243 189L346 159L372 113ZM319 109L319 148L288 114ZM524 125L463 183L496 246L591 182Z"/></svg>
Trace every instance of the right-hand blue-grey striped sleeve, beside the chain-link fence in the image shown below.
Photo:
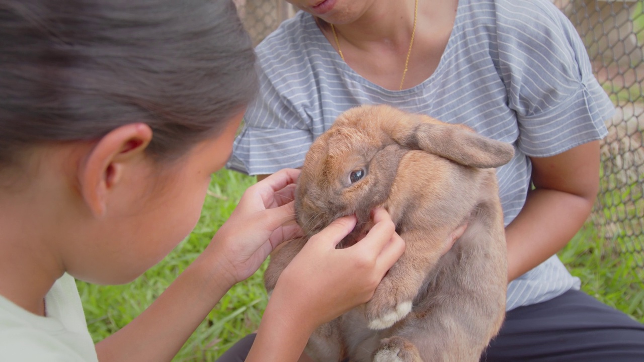
<svg viewBox="0 0 644 362"><path fill-rule="evenodd" d="M500 68L518 119L518 147L549 157L605 137L614 106L565 15L542 0L498 14Z"/></svg>

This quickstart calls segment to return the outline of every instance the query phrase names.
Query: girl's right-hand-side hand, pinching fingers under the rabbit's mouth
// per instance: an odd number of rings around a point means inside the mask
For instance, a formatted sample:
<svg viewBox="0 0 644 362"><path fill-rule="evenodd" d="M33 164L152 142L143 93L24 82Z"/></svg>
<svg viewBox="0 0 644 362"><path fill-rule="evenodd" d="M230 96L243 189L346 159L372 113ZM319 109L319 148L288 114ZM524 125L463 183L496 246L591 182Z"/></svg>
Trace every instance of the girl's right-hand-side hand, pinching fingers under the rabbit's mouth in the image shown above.
<svg viewBox="0 0 644 362"><path fill-rule="evenodd" d="M376 209L373 218L365 238L345 249L336 245L354 228L354 216L339 218L312 236L279 276L271 309L312 330L370 300L404 251L389 214Z"/></svg>

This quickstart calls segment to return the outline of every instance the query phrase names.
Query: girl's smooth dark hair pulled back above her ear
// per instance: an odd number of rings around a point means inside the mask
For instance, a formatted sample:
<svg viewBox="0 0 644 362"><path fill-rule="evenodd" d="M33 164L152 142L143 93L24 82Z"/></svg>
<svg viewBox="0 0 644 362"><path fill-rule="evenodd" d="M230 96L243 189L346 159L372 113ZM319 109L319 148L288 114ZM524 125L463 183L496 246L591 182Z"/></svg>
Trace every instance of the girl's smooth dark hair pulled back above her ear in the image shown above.
<svg viewBox="0 0 644 362"><path fill-rule="evenodd" d="M231 0L3 0L0 171L133 122L176 158L254 97L254 61Z"/></svg>

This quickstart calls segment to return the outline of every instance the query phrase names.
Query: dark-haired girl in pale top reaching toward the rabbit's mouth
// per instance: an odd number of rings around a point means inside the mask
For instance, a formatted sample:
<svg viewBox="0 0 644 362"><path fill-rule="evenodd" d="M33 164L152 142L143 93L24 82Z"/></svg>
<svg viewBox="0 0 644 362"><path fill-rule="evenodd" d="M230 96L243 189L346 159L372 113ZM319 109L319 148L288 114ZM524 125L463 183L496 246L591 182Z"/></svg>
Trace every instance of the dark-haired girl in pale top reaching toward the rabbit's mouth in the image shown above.
<svg viewBox="0 0 644 362"><path fill-rule="evenodd" d="M298 170L247 189L190 267L96 346L74 278L127 283L196 224L258 86L234 4L5 0L0 24L0 360L171 360L234 283L301 234ZM296 360L307 331L369 300L404 250L386 211L373 220L348 249L335 244L352 217L313 236L247 361Z"/></svg>

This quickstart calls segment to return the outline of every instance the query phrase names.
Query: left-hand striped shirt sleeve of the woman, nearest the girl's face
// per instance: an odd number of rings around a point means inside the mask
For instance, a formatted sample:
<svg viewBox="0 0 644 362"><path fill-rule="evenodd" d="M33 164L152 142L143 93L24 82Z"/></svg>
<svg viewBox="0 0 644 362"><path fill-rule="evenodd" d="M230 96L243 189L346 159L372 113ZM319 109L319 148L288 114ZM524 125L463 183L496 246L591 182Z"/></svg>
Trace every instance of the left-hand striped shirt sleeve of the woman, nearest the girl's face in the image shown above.
<svg viewBox="0 0 644 362"><path fill-rule="evenodd" d="M307 98L315 88L305 55L282 28L272 35L256 49L260 91L247 108L227 163L248 175L300 167L314 139Z"/></svg>

